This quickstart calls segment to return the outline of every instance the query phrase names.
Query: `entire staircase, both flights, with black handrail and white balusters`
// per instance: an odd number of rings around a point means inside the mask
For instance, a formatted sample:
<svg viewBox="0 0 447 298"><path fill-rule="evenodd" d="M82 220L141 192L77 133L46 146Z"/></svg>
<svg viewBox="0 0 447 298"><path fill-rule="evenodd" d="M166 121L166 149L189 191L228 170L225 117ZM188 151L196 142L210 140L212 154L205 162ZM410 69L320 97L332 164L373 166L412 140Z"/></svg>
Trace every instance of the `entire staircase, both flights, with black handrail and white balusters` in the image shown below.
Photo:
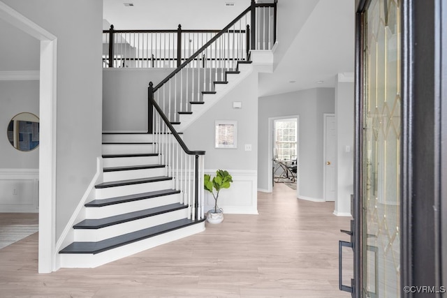
<svg viewBox="0 0 447 298"><path fill-rule="evenodd" d="M276 1L251 1L166 79L155 87L150 82L149 133L103 134L102 174L71 218L73 228L66 228L64 245L58 246L64 247L60 267L98 267L205 230L205 151L189 150L179 132L254 70L249 50L256 50L256 35L253 30L250 37L247 22L254 28L256 10L269 15L270 8L276 9ZM274 26L268 22L261 38L266 38L266 28L276 31ZM268 36L274 36L270 31ZM259 33L257 38L259 44ZM112 68L118 58L112 47L109 52Z"/></svg>

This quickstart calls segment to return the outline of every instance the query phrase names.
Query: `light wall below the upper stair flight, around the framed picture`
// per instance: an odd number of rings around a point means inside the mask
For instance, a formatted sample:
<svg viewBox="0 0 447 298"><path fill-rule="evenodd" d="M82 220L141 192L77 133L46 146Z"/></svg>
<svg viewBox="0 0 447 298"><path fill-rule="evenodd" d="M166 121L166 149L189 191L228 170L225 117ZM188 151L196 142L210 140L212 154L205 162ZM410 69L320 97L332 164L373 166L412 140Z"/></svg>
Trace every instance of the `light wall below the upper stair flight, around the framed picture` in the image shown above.
<svg viewBox="0 0 447 298"><path fill-rule="evenodd" d="M205 150L205 172L215 175L218 169L233 175L233 186L219 195L219 207L225 213L257 214L258 170L258 74L251 73L184 131L184 142L191 150ZM233 101L242 102L234 109ZM214 122L237 121L237 149L214 148ZM251 151L245 151L251 144ZM209 195L205 204L211 208ZM205 209L207 211L207 209Z"/></svg>

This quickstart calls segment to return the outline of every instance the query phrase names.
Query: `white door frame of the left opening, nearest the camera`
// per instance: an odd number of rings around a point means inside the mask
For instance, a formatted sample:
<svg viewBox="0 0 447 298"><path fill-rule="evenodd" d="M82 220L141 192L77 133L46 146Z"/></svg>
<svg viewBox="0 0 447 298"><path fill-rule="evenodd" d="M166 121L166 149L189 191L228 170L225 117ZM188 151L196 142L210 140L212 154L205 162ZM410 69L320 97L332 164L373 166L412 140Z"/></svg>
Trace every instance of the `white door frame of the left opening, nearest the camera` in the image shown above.
<svg viewBox="0 0 447 298"><path fill-rule="evenodd" d="M0 1L0 19L40 40L38 272L55 264L57 37Z"/></svg>

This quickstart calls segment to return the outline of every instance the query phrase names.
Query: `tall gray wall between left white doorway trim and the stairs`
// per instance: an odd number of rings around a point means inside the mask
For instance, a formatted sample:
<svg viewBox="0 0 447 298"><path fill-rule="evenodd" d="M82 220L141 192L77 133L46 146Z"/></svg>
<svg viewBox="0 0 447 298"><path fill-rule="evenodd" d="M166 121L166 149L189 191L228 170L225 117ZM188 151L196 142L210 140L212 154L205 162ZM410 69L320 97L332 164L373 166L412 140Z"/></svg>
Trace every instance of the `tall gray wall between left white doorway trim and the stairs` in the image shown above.
<svg viewBox="0 0 447 298"><path fill-rule="evenodd" d="M58 239L94 177L96 157L101 156L103 2L4 2L57 36Z"/></svg>

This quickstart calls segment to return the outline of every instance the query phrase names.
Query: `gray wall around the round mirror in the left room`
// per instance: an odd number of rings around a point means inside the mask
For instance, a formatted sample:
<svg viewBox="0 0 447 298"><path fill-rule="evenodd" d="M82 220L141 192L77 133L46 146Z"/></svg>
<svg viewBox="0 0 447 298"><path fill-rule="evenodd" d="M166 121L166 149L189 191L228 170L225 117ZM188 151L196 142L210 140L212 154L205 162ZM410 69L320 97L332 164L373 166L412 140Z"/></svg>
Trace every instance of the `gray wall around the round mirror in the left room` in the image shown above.
<svg viewBox="0 0 447 298"><path fill-rule="evenodd" d="M39 116L39 81L0 82L0 168L38 169L39 149L23 152L15 149L6 135L10 120L20 112Z"/></svg>

